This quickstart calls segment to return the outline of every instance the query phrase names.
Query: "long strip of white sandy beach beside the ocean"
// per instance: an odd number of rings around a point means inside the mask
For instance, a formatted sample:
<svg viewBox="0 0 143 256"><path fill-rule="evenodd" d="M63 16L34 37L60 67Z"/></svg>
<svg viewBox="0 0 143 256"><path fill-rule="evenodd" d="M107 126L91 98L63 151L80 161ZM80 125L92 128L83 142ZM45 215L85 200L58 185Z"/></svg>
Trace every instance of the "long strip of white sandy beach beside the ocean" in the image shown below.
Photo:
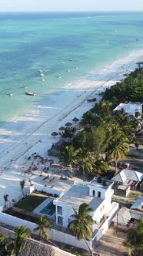
<svg viewBox="0 0 143 256"><path fill-rule="evenodd" d="M26 186L29 187L29 177L23 172L23 167L28 166L27 158L32 153L48 157L47 150L60 139L60 135L53 137L51 133L59 133L58 128L65 126L67 122L75 125L71 120L75 116L81 119L82 114L93 105L87 99L91 96L99 100L98 94L101 91L124 79L123 74L134 70L137 67L136 62L142 61L142 58L143 51L134 52L102 69L98 74L92 70L85 78L63 88L62 93L53 99L52 105L42 104L25 116L14 118L10 127L0 129L0 205L4 205L4 194L9 195L9 201L22 194L20 180L25 179ZM33 184L44 184L38 175L39 171L30 177ZM58 186L57 183L57 188Z"/></svg>

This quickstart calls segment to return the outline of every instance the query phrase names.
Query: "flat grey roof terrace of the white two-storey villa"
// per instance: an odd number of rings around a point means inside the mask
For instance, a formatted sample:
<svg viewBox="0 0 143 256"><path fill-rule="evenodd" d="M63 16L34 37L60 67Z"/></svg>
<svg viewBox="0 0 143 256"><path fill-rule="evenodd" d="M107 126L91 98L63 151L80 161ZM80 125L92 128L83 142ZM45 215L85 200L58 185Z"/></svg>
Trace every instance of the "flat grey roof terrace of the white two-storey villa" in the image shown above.
<svg viewBox="0 0 143 256"><path fill-rule="evenodd" d="M73 185L62 197L55 201L68 204L72 207L79 207L80 204L86 203L95 211L104 199L89 196L89 187L80 184Z"/></svg>

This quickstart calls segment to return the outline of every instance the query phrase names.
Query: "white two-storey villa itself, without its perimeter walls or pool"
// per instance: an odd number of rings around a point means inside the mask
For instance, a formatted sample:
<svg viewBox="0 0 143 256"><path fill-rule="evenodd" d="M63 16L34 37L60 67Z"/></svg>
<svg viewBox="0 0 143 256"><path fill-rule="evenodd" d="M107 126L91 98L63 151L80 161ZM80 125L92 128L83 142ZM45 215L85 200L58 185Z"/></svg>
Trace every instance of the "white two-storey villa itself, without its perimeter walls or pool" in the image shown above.
<svg viewBox="0 0 143 256"><path fill-rule="evenodd" d="M113 210L111 196L114 190L111 189L113 182L101 178L94 178L89 183L77 182L53 201L56 206L56 224L67 227L71 221L71 215L78 211L78 207L86 203L92 208L91 216L93 220L100 224L110 216ZM116 210L117 211L117 206ZM113 212L113 211L112 211ZM97 229L97 225L92 227L92 231Z"/></svg>

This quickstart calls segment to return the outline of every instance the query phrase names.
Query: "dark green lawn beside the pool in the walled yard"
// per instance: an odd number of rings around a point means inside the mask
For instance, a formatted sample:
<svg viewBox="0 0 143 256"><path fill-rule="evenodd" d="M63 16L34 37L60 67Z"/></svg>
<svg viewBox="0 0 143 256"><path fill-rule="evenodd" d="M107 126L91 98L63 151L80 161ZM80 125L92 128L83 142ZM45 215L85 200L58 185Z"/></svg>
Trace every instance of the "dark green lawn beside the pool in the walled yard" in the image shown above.
<svg viewBox="0 0 143 256"><path fill-rule="evenodd" d="M42 204L45 199L46 197L28 196L18 204L15 204L15 207L21 208L25 211L33 211L39 204Z"/></svg>

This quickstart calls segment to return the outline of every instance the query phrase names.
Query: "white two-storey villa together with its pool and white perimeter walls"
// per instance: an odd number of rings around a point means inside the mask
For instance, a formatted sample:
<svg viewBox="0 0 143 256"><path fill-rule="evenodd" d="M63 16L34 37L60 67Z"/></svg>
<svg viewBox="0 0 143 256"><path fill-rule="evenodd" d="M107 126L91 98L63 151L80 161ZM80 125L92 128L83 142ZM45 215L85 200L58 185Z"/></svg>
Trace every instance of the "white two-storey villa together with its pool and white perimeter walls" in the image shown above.
<svg viewBox="0 0 143 256"><path fill-rule="evenodd" d="M49 182L49 181L48 181ZM62 183L62 181L60 181ZM101 177L95 177L90 182L82 182L75 180L74 184L68 185L65 190L55 190L53 187L39 186L38 184L33 184L29 191L29 197L36 197L31 195L33 191L38 190L43 193L51 194L53 196L45 196L44 200L42 197L42 202L37 204L37 207L33 208L32 211L22 210L22 206L12 201L12 204L8 207L12 207L13 211L25 212L29 217L39 218L42 215L47 216L52 221L52 228L48 229L48 234L53 241L62 242L64 244L70 244L77 248L84 248L88 250L88 246L92 248L93 241L98 241L108 227L115 214L118 212L118 203L111 202L111 197L114 193L112 190L113 181L106 180ZM55 197L54 195L58 196ZM23 198L23 197L22 197ZM27 197L24 197L26 200ZM29 200L29 198L27 198ZM32 198L31 198L32 200ZM68 224L72 221L72 214L78 212L78 208L81 204L86 203L91 207L91 217L95 224L92 225L92 237L90 241L78 241L73 234L69 234ZM0 212L1 226L4 227L19 227L25 226L32 230L37 227L35 221L26 221L19 217L13 216L11 214L6 214L2 211ZM59 254L60 255L60 254ZM64 254L63 254L64 255Z"/></svg>

